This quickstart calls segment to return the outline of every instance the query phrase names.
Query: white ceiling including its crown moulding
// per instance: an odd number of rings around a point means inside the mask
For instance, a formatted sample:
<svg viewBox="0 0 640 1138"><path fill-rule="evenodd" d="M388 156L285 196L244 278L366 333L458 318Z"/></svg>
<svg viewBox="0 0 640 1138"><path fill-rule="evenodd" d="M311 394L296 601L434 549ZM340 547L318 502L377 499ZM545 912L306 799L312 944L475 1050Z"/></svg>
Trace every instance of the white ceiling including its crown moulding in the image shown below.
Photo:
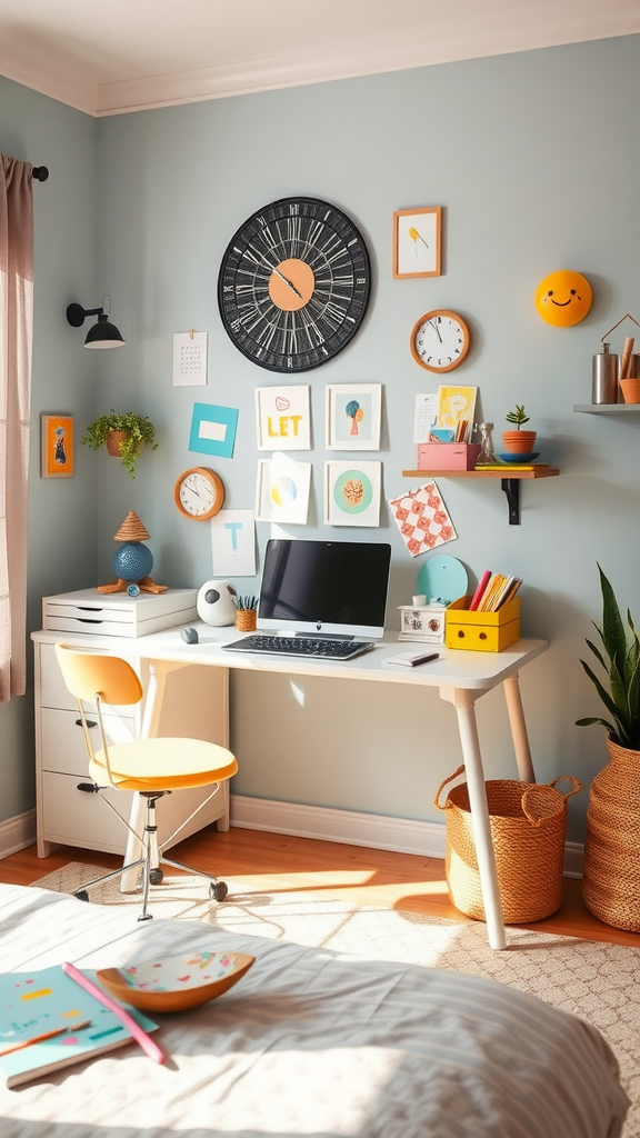
<svg viewBox="0 0 640 1138"><path fill-rule="evenodd" d="M90 115L640 32L640 0L0 0L0 74Z"/></svg>

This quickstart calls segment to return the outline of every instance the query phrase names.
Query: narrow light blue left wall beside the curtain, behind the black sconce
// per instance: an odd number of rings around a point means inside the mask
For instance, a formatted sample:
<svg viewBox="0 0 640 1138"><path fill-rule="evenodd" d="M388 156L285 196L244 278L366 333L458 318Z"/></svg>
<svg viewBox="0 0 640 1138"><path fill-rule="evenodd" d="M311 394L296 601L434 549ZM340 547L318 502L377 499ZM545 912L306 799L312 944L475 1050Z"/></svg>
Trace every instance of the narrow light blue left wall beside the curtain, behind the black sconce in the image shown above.
<svg viewBox="0 0 640 1138"><path fill-rule="evenodd" d="M65 310L93 300L97 266L96 122L0 76L0 152L48 166L34 183L34 336L28 495L28 632L40 628L41 597L80 588L96 566L96 469L77 455L75 478L40 478L40 415L93 413L91 353L80 351ZM85 448L82 448L85 451ZM25 503L26 509L26 503ZM33 776L33 654L30 690L0 706L0 822L30 809Z"/></svg>

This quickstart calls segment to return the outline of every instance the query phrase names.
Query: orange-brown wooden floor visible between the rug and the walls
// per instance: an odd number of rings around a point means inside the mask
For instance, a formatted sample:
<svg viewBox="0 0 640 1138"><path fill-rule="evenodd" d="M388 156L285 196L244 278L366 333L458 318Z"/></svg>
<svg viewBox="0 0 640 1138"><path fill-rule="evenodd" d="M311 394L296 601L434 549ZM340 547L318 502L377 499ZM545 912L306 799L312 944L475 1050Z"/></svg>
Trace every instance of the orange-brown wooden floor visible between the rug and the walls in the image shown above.
<svg viewBox="0 0 640 1138"><path fill-rule="evenodd" d="M289 838L232 827L218 833L212 826L189 838L172 851L177 860L205 869L243 892L293 892L342 897L356 905L384 905L460 920L449 900L444 861L410 853L371 850L309 838ZM108 853L57 847L48 858L38 858L35 846L0 860L0 882L31 885L68 861L116 868L122 861ZM597 921L585 909L581 882L565 879L563 905L544 921L524 927L541 932L634 945L640 933L623 932Z"/></svg>

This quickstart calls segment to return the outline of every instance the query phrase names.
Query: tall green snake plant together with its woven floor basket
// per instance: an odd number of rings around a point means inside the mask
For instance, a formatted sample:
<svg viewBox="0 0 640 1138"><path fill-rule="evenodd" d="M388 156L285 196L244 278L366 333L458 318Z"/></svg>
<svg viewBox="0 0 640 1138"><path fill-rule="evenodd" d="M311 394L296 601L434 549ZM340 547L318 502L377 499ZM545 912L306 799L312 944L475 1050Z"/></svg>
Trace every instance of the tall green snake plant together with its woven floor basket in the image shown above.
<svg viewBox="0 0 640 1138"><path fill-rule="evenodd" d="M598 566L602 627L594 625L604 653L586 644L606 674L602 683L584 660L608 718L579 719L607 731L609 761L589 792L582 894L586 908L608 925L640 932L640 641L631 612L620 613L614 589Z"/></svg>

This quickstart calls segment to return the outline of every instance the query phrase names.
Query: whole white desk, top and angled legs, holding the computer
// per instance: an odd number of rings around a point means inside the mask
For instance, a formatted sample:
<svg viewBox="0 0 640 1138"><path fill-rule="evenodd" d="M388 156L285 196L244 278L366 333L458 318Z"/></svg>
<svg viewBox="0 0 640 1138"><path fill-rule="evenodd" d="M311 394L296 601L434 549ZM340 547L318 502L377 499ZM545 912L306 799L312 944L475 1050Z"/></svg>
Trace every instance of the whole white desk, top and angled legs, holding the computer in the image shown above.
<svg viewBox="0 0 640 1138"><path fill-rule="evenodd" d="M440 696L452 703L458 717L462 758L469 789L469 806L476 840L478 871L486 914L489 942L492 948L506 947L502 907L498 891L498 875L491 842L486 802L485 774L477 731L475 703L493 687L503 686L514 740L518 776L534 782L525 717L520 700L518 671L547 650L547 641L520 640L504 652L459 652L438 648L441 657L419 668L397 668L385 665L385 658L409 651L410 645L399 643L397 634L389 633L366 655L354 660L334 662L305 660L298 657L244 655L224 652L222 644L238 640L235 628L211 628L202 622L200 642L186 644L180 628L121 640L114 636L75 636L60 633L35 633L34 640L54 644L56 641L80 643L99 648L113 654L136 657L149 665L150 681L142 732L153 736L159 718L166 677L177 668L202 665L215 668L240 668L245 671L292 673L300 676L326 676L333 679L368 679L376 683L411 685L418 690L436 687ZM418 645L416 645L418 648ZM435 651L435 649L434 649ZM239 756L241 764L243 757ZM435 790L435 787L434 787ZM132 851L128 850L128 855Z"/></svg>

